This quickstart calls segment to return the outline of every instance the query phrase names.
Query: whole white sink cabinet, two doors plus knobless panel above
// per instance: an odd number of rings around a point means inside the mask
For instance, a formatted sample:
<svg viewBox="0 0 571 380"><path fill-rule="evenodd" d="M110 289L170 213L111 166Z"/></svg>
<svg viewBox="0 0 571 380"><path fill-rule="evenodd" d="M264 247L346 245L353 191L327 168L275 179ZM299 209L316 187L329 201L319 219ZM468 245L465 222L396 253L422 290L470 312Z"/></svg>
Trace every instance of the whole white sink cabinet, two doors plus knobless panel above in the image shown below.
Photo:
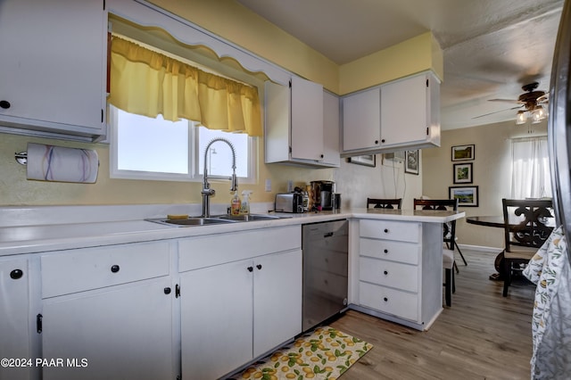
<svg viewBox="0 0 571 380"><path fill-rule="evenodd" d="M207 247L207 259L191 259ZM181 270L203 267L180 274L183 379L227 375L302 332L301 227L189 239L179 250Z"/></svg>

